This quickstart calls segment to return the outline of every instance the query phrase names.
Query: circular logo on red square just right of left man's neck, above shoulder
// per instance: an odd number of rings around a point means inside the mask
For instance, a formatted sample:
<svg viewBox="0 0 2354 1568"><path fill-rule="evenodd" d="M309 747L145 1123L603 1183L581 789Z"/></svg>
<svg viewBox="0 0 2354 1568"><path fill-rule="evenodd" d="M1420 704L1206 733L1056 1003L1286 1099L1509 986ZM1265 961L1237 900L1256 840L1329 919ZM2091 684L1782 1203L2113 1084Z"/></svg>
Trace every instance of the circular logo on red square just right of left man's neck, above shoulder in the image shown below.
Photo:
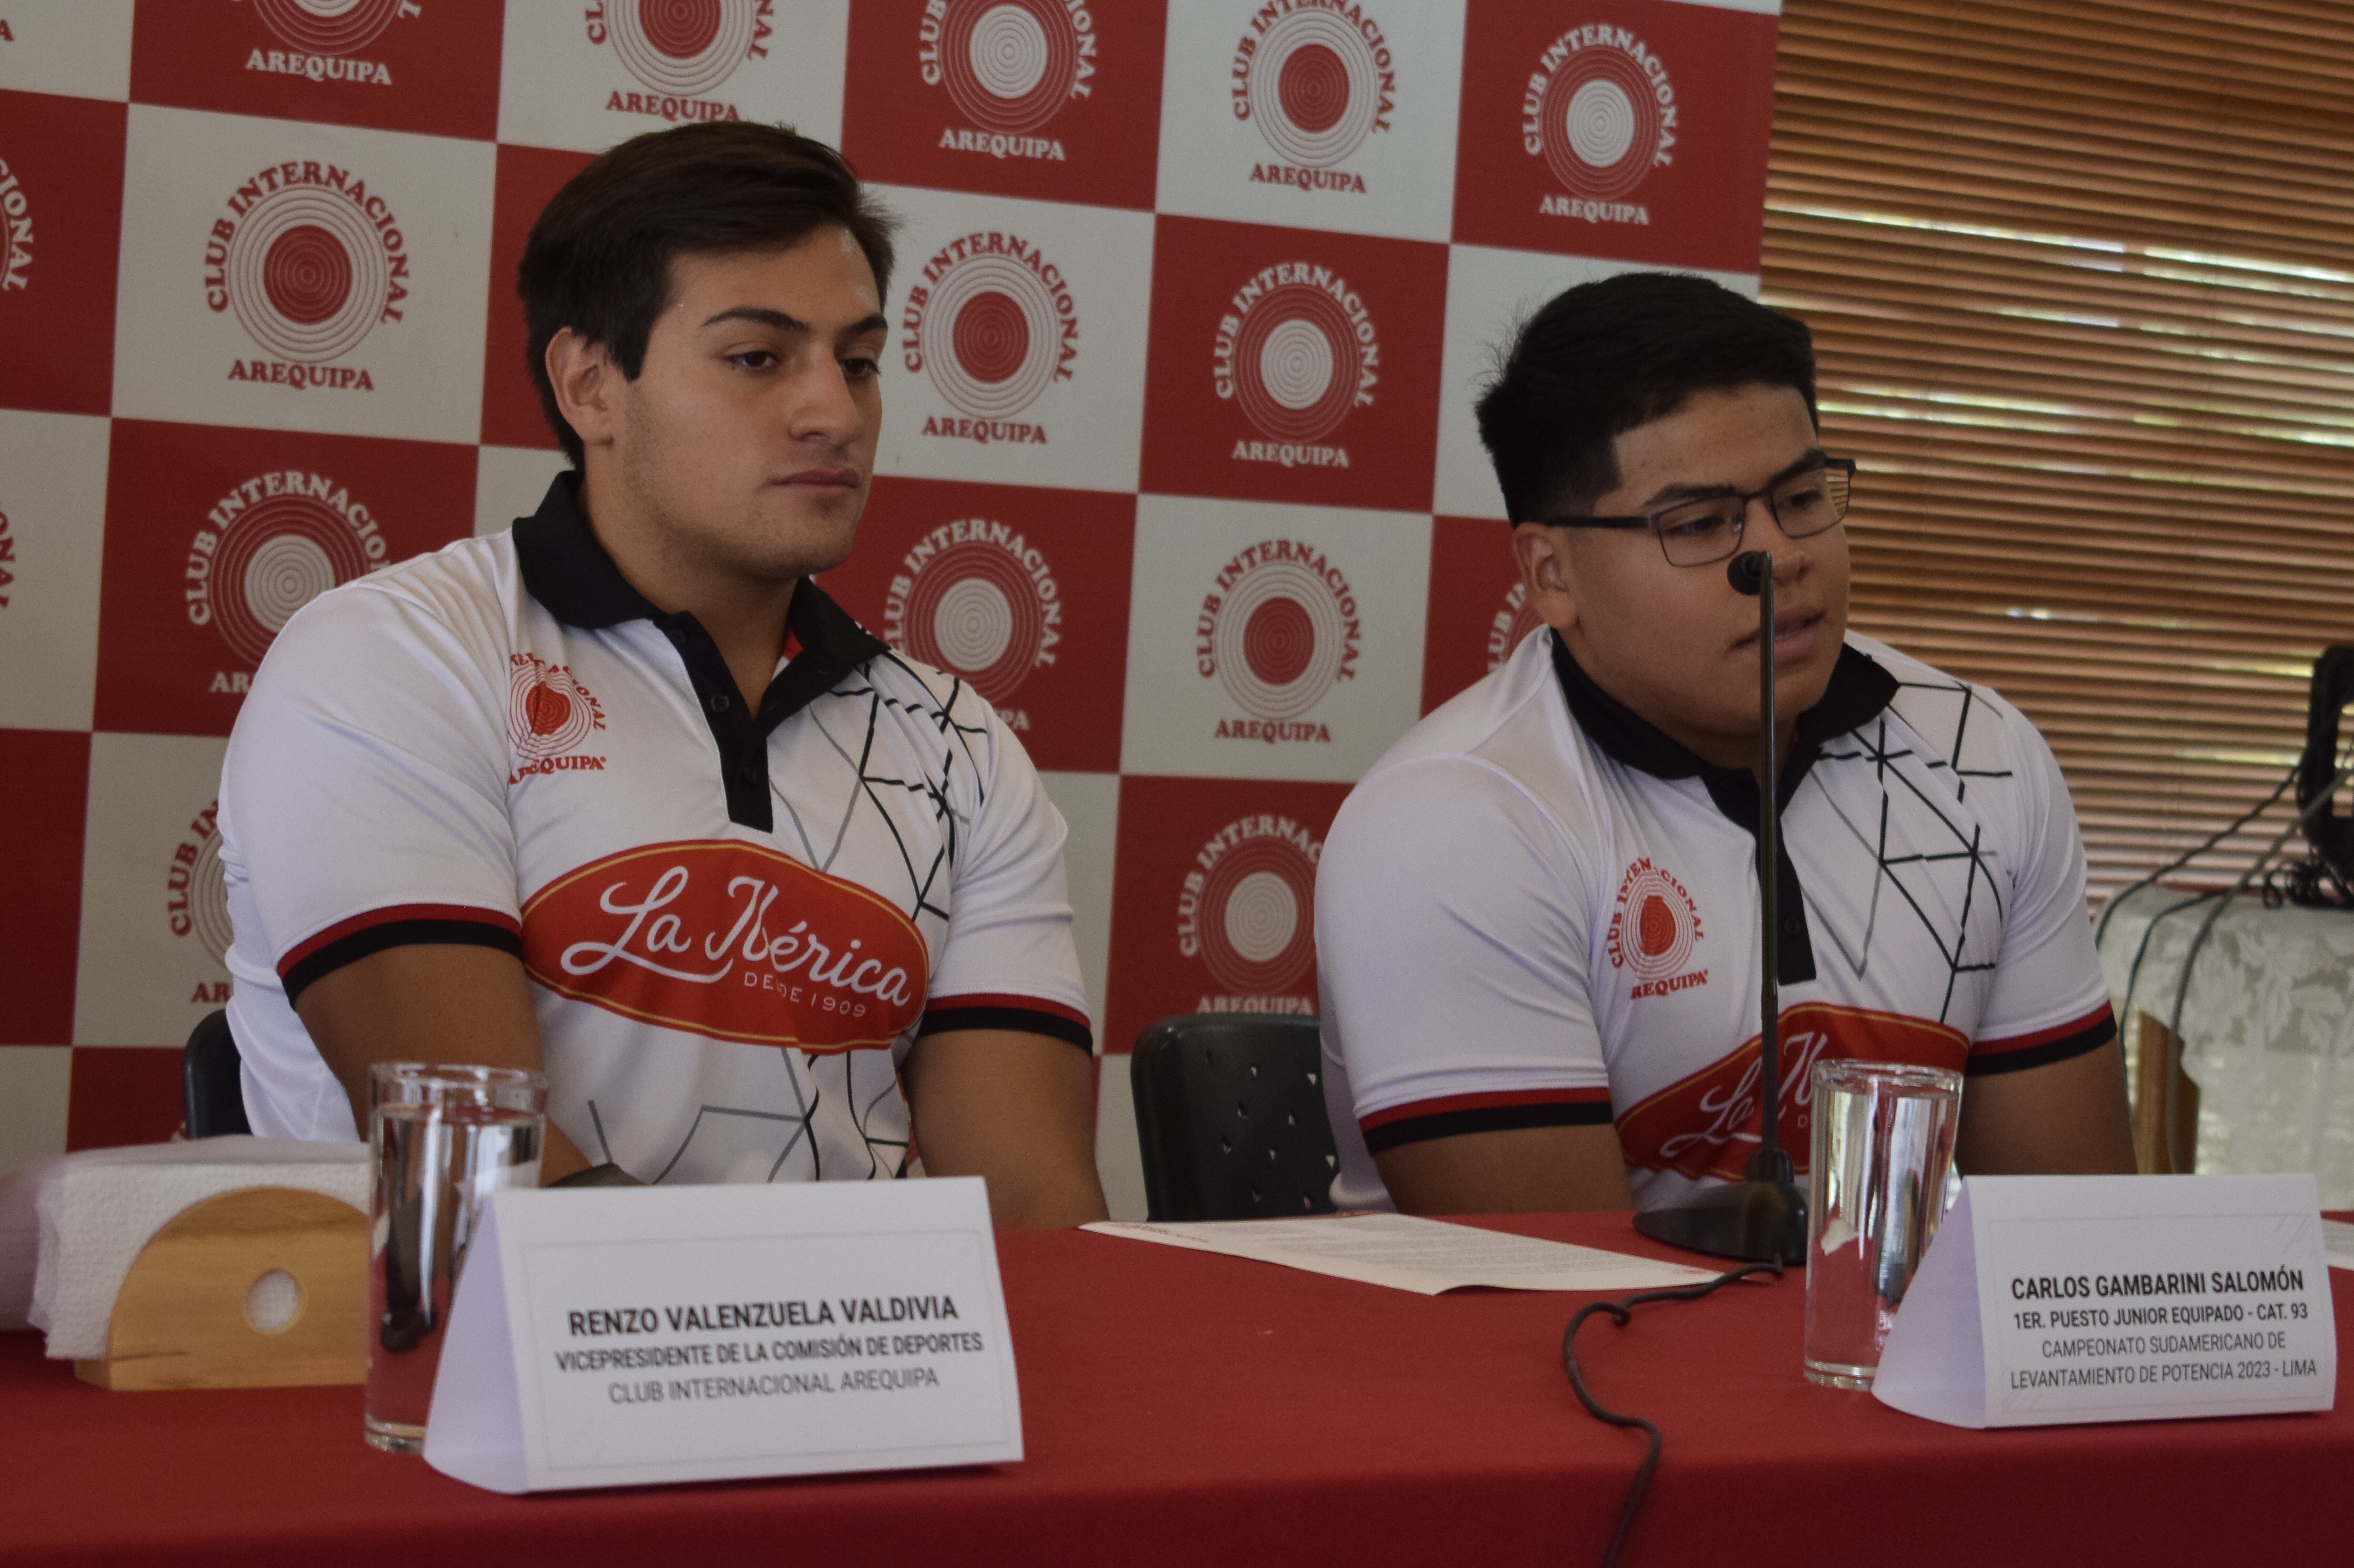
<svg viewBox="0 0 2354 1568"><path fill-rule="evenodd" d="M963 676L996 706L1055 662L1062 589L1038 546L1005 523L935 527L899 563L883 603L883 638Z"/></svg>

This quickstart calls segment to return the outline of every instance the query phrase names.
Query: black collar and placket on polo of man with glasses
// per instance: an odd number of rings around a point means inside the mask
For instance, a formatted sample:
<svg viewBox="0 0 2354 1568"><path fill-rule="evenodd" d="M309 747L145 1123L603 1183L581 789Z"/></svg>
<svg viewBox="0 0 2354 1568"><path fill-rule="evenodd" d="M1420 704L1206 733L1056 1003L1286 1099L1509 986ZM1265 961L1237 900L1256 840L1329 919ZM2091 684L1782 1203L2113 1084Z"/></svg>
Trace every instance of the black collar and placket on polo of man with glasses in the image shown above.
<svg viewBox="0 0 2354 1568"><path fill-rule="evenodd" d="M1655 779L1700 779L1709 800L1754 838L1758 831L1758 782L1747 768L1718 768L1702 760L1690 746L1671 739L1624 702L1594 683L1570 650L1554 633L1554 671L1561 676L1561 695L1570 702L1570 718L1603 749L1605 756L1648 772ZM1798 793L1822 746L1850 730L1878 718L1895 699L1897 678L1855 647L1841 645L1831 680L1822 687L1822 699L1798 716L1798 732L1791 739L1782 777L1775 779L1775 796L1782 808ZM1782 841L1782 859L1775 866L1775 904L1782 911L1782 963L1780 982L1798 984L1815 977L1815 944L1806 925L1806 895L1798 885L1798 866L1789 859L1789 841Z"/></svg>

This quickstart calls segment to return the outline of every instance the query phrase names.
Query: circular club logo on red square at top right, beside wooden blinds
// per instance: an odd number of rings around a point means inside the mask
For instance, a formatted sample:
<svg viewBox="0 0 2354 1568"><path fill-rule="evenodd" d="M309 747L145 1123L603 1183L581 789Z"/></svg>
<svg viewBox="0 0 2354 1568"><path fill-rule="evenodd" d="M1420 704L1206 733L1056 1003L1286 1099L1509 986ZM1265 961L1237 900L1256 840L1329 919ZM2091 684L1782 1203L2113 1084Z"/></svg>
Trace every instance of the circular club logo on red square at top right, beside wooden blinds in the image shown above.
<svg viewBox="0 0 2354 1568"><path fill-rule="evenodd" d="M1676 146L1667 61L1610 24L1570 28L1547 47L1523 113L1523 146L1570 195L1627 195Z"/></svg>

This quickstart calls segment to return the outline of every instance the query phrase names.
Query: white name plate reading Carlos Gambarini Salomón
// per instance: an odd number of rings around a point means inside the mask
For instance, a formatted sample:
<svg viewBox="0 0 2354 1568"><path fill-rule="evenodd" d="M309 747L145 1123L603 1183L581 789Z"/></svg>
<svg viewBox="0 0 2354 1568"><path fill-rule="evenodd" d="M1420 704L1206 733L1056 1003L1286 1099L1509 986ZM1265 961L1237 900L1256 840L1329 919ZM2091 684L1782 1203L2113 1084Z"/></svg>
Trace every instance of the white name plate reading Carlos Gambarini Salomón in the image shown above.
<svg viewBox="0 0 2354 1568"><path fill-rule="evenodd" d="M1970 1177L1871 1391L1951 1427L2328 1410L2314 1177Z"/></svg>

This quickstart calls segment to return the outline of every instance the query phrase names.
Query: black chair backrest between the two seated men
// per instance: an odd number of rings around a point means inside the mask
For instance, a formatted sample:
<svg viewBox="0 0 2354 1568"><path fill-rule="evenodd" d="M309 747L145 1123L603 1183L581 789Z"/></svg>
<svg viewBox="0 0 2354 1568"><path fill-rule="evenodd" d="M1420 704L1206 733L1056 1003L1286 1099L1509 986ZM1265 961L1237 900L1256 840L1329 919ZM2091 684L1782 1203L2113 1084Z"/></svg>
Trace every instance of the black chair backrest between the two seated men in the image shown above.
<svg viewBox="0 0 2354 1568"><path fill-rule="evenodd" d="M1330 1215L1332 1123L1314 1017L1196 1012L1128 1059L1153 1220Z"/></svg>

